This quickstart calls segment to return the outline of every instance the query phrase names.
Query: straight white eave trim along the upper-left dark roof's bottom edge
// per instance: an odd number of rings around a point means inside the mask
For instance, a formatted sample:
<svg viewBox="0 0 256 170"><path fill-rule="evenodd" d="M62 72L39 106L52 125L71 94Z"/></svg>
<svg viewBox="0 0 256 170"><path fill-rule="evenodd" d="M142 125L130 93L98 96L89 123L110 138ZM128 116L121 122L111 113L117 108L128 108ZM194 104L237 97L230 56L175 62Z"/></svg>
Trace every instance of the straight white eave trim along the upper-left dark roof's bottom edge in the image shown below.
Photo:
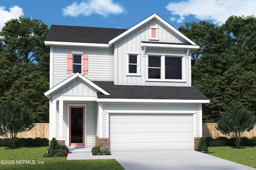
<svg viewBox="0 0 256 170"><path fill-rule="evenodd" d="M75 43L75 42L60 42L60 41L44 41L44 45L51 46L71 46L71 47L102 47L108 48L108 44L100 44L100 43Z"/></svg>

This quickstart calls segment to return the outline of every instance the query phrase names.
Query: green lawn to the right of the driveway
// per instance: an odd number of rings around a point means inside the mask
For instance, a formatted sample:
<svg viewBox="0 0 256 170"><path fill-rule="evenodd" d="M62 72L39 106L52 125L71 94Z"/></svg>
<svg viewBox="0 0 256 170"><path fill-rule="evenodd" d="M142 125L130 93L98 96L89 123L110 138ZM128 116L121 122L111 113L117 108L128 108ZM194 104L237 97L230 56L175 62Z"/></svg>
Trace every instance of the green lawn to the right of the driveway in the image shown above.
<svg viewBox="0 0 256 170"><path fill-rule="evenodd" d="M231 147L209 147L212 156L230 160L238 164L256 168L256 147L244 147L245 149L233 149Z"/></svg>

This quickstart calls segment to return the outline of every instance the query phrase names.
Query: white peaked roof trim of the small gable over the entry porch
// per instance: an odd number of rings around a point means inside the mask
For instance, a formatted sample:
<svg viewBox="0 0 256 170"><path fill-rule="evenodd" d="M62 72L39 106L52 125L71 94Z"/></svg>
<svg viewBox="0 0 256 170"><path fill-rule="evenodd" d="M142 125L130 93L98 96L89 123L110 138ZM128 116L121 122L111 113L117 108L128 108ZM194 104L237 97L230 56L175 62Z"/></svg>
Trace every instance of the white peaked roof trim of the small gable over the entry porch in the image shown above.
<svg viewBox="0 0 256 170"><path fill-rule="evenodd" d="M78 72L76 74L70 76L69 78L67 78L66 80L61 82L60 84L57 84L56 86L54 86L53 88L51 88L47 92L45 92L44 95L48 99L50 99L52 97L52 94L58 92L64 86L67 86L68 84L70 84L71 82L73 82L74 80L77 80L77 79L80 79L83 83L90 85L96 91L98 91L98 92L100 92L104 95L110 95L108 92L106 92L105 90L103 90L102 88L100 88L99 86L97 86L96 84L94 84L93 82L91 82L90 80L88 80L86 77L84 77L82 74L80 74Z"/></svg>

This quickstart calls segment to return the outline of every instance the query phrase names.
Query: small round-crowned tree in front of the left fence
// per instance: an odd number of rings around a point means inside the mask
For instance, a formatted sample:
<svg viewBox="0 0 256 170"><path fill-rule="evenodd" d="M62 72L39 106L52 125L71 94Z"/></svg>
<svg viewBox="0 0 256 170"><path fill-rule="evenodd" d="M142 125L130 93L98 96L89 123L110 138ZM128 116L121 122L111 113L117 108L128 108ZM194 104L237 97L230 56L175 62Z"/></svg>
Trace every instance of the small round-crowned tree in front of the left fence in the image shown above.
<svg viewBox="0 0 256 170"><path fill-rule="evenodd" d="M34 127L31 111L20 104L7 102L0 105L0 135L11 136L11 147L15 148L18 133L30 131Z"/></svg>

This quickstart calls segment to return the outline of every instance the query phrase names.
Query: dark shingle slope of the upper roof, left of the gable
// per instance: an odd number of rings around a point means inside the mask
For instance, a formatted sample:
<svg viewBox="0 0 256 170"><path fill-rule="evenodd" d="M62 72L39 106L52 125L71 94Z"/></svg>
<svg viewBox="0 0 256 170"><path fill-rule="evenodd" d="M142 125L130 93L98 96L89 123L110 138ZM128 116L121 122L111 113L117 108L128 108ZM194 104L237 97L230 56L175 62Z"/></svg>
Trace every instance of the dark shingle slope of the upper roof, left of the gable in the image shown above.
<svg viewBox="0 0 256 170"><path fill-rule="evenodd" d="M108 41L126 30L127 29L52 25L45 41L107 44Z"/></svg>

